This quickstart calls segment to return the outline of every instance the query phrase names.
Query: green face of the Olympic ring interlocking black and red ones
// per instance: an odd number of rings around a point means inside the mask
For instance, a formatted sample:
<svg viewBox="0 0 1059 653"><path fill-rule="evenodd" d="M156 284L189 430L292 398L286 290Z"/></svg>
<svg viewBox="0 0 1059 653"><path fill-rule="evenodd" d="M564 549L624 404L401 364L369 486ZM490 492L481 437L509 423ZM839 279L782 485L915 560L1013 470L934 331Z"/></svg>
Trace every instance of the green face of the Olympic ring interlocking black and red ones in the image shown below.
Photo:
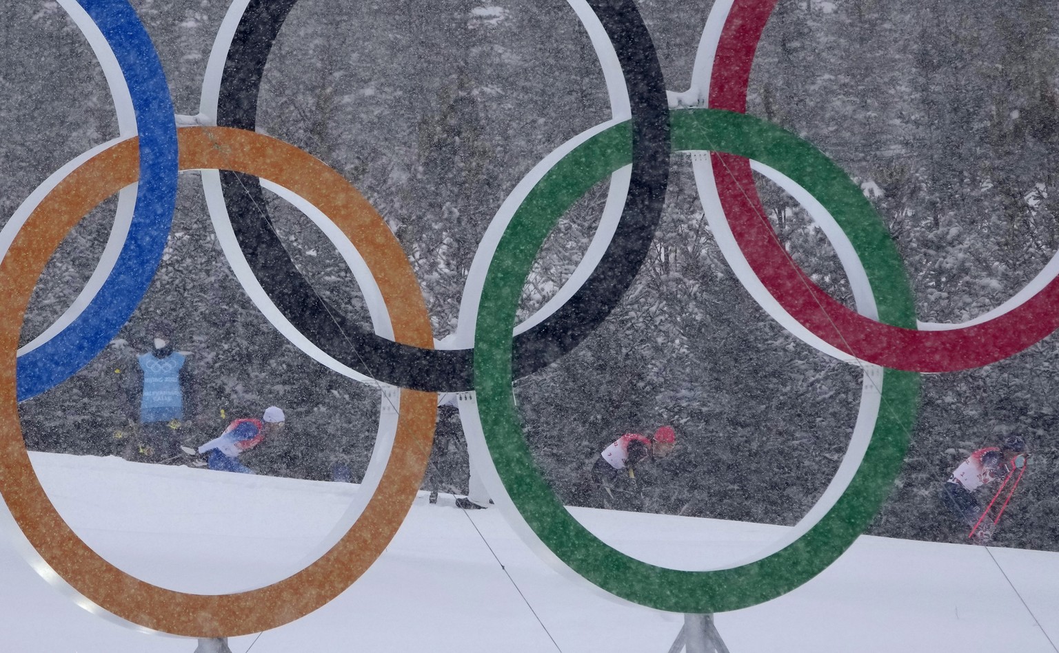
<svg viewBox="0 0 1059 653"><path fill-rule="evenodd" d="M860 188L823 152L759 119L717 109L670 113L674 151L712 150L775 168L828 208L864 264L886 324L915 328L907 275L882 220ZM631 163L628 123L587 141L553 168L507 226L482 290L474 338L474 387L497 474L536 537L572 570L623 599L658 610L705 614L739 610L805 583L868 526L901 469L918 410L919 375L885 369L881 412L845 492L804 536L760 560L685 572L651 565L610 547L567 511L526 446L511 392L513 325L534 259L559 217L590 187Z"/></svg>

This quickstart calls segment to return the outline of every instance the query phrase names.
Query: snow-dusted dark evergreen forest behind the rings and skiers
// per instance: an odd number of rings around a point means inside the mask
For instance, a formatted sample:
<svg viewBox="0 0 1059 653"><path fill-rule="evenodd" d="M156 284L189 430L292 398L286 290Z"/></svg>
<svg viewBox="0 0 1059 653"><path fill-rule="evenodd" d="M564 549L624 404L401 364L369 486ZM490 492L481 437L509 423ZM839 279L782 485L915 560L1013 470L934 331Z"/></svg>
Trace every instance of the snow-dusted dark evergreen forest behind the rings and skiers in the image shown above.
<svg viewBox="0 0 1059 653"><path fill-rule="evenodd" d="M218 0L133 0L179 113L197 112L227 10ZM639 0L667 88L689 86L707 0ZM0 216L51 173L118 133L91 50L55 2L0 5ZM754 62L749 111L802 135L861 185L885 221L921 321L959 322L1001 304L1059 246L1059 5L1051 0L779 0ZM435 338L455 327L467 268L523 175L609 119L599 65L562 0L302 0L265 71L258 130L311 152L387 219L412 261ZM826 238L768 181L758 189L788 249L850 304ZM561 221L523 293L530 314L572 272L607 184ZM369 325L335 248L274 196L268 210L325 300ZM23 342L73 301L106 242L115 202L53 257ZM147 297L120 337L56 388L23 402L31 449L109 455L136 415L134 355L164 319L189 352L190 440L276 404L287 435L251 467L359 479L378 393L287 343L228 267L197 173ZM904 468L869 532L958 540L937 484L1004 434L1034 452L997 542L1059 550L1056 337L1006 361L926 375ZM675 454L653 466L642 509L791 524L816 501L849 441L860 374L785 332L751 300L702 217L690 165L675 157L648 260L606 323L571 355L520 380L538 464L569 504L587 465L618 435L671 423ZM131 393L131 395L130 395ZM130 398L131 397L131 398ZM427 489L466 491L459 420L441 413ZM249 456L248 456L249 457Z"/></svg>

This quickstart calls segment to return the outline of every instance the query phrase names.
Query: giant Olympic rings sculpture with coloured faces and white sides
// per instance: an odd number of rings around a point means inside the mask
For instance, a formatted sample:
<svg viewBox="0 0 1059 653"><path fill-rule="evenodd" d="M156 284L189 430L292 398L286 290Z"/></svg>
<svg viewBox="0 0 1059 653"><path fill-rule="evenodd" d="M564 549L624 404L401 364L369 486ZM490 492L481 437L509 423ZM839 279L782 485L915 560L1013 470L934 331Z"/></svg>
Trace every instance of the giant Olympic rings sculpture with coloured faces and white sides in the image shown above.
<svg viewBox="0 0 1059 653"><path fill-rule="evenodd" d="M916 373L988 364L1059 327L1059 315L1047 310L1059 292L1059 257L976 320L916 322L900 258L860 189L808 143L744 114L751 62L776 0L718 0L692 88L668 98L631 0L568 0L603 64L613 117L549 155L504 202L468 274L455 337L435 349L409 261L381 218L337 173L253 131L262 72L294 1L232 4L207 67L200 126L178 130L157 53L127 1L60 0L104 67L120 137L60 168L0 231L0 287L10 303L0 311L0 400L8 417L0 425L0 494L33 548L35 566L122 620L178 635L232 636L275 628L329 601L381 554L408 511L430 454L435 393L443 391L461 393L469 446L485 460L500 508L561 569L659 610L753 605L819 574L870 522L908 447ZM631 284L659 223L672 151L711 152L694 162L706 217L755 300L795 335L864 371L850 447L816 506L762 555L695 572L632 559L574 521L540 477L511 397L515 379L575 347ZM161 258L181 169L201 170L226 256L273 325L313 359L378 384L383 395L365 491L349 507L338 543L287 579L222 596L144 583L92 551L40 487L17 419L18 401L84 366L142 300ZM764 218L751 169L791 193L825 230L857 311L791 260ZM608 176L600 228L572 279L516 325L519 292L544 238L567 207ZM340 315L331 320L338 313L297 272L262 215L258 178L336 241L363 290L374 331ZM128 188L137 182L133 197ZM85 291L16 356L25 306L49 256L82 216L114 193L115 226Z"/></svg>

